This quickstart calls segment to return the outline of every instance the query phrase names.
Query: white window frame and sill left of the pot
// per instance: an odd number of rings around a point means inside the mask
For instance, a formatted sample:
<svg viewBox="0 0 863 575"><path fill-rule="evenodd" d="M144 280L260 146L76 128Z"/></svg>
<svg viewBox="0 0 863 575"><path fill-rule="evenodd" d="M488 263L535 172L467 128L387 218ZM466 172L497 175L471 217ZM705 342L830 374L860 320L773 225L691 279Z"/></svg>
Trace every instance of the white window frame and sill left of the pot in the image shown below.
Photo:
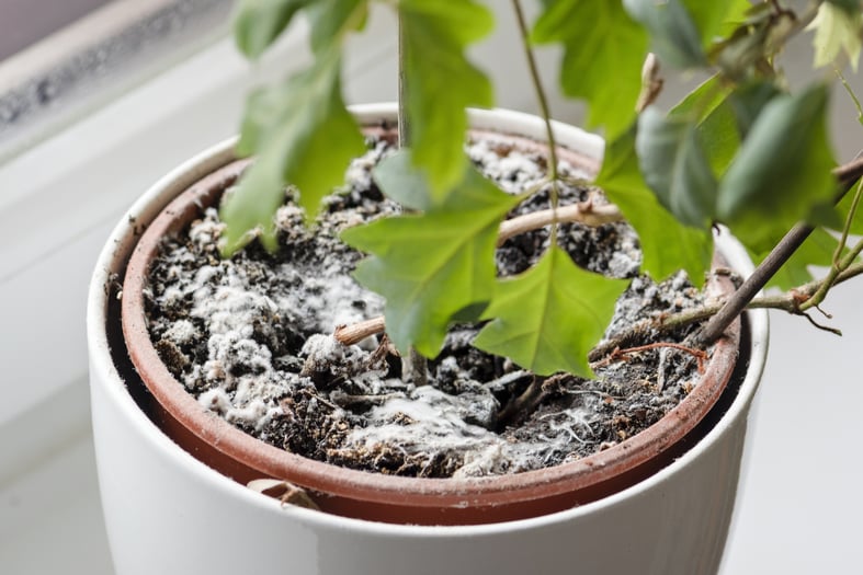
<svg viewBox="0 0 863 575"><path fill-rule="evenodd" d="M352 101L393 100L395 38L356 39ZM84 306L125 209L162 174L234 135L250 89L308 62L298 23L256 65L224 38L0 164L0 565L111 573L95 484ZM49 549L50 552L46 552ZM54 559L52 559L54 557ZM60 567L60 565L63 567Z"/></svg>

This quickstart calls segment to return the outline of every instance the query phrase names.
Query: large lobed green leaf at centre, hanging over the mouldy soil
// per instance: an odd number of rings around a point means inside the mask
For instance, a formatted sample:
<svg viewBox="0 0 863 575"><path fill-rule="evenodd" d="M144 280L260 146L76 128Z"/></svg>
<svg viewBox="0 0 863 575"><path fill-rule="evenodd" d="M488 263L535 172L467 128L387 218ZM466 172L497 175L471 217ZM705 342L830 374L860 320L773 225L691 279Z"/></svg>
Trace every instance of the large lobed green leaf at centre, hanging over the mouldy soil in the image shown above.
<svg viewBox="0 0 863 575"><path fill-rule="evenodd" d="M401 353L413 346L438 355L453 318L485 308L495 289L498 228L518 202L468 168L443 205L342 232L372 254L355 276L386 298L387 334Z"/></svg>

